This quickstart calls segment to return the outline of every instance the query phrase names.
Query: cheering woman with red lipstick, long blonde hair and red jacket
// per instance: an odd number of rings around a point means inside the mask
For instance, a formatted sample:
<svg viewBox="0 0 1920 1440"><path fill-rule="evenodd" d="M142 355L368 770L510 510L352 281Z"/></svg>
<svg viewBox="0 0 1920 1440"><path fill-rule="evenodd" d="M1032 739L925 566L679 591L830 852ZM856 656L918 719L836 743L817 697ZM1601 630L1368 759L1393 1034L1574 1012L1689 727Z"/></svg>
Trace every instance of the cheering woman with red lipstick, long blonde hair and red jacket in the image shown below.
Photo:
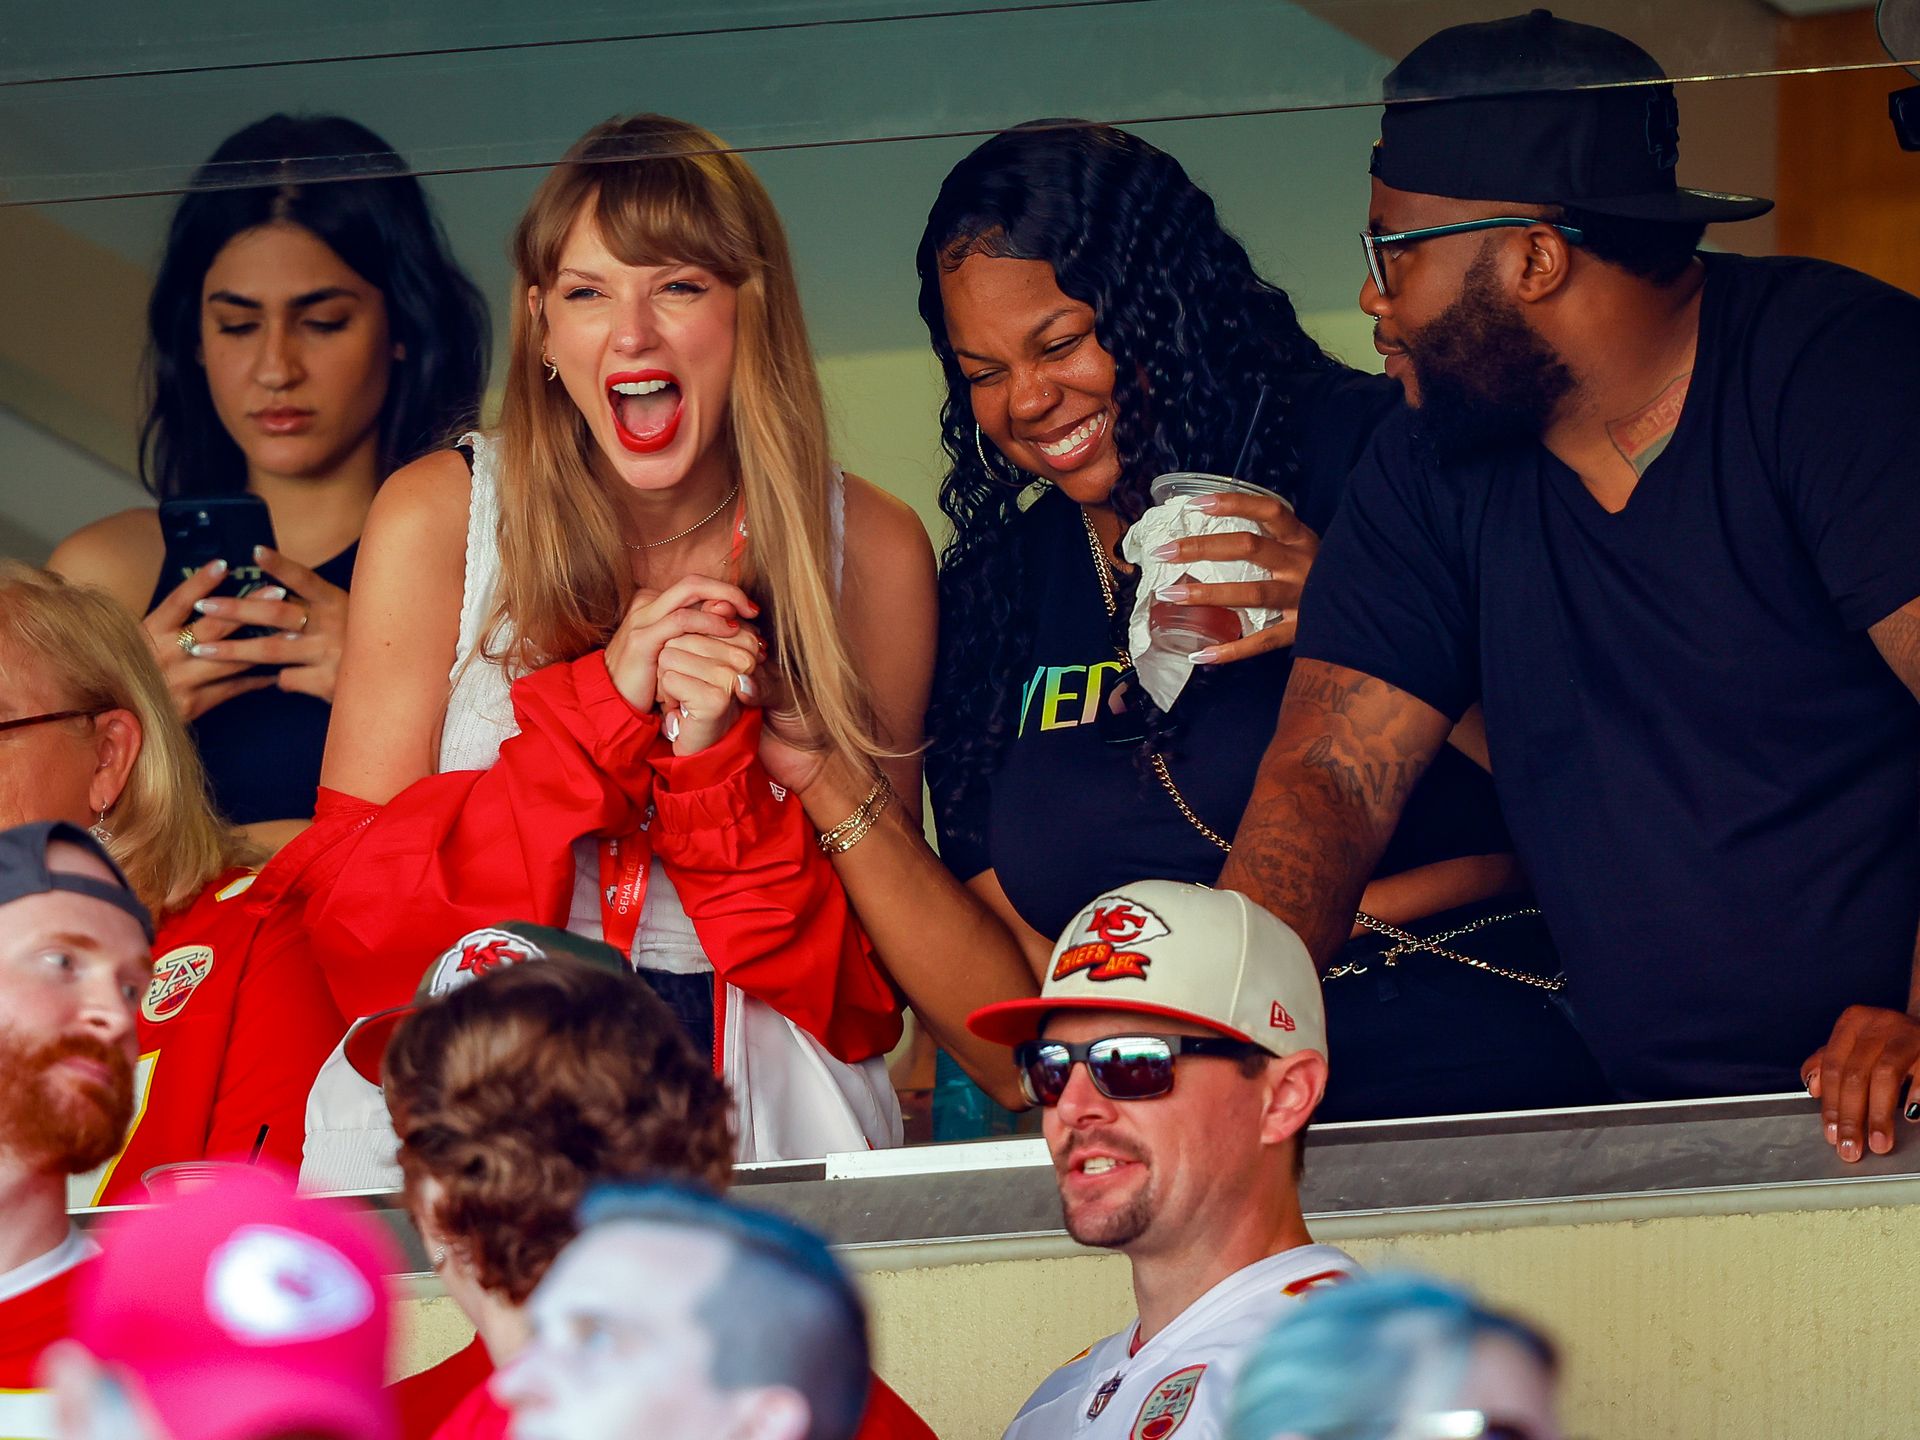
<svg viewBox="0 0 1920 1440"><path fill-rule="evenodd" d="M916 975L824 851L918 801L925 532L833 467L785 234L712 134L597 127L513 257L499 430L374 501L321 820L276 870L353 1014L503 914L564 925L668 996L743 1158L897 1144ZM756 758L776 684L866 776L828 824Z"/></svg>

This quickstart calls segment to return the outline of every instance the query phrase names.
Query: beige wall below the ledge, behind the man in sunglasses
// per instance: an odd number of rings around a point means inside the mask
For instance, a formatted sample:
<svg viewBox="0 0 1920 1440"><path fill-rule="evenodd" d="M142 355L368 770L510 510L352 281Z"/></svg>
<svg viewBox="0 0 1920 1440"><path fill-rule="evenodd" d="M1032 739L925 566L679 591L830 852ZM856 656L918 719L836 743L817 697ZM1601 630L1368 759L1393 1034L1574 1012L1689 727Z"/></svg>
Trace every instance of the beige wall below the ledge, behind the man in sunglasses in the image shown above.
<svg viewBox="0 0 1920 1440"><path fill-rule="evenodd" d="M1571 1213L1571 1212L1569 1212ZM1419 1223L1417 1219L1409 1219ZM1373 1269L1469 1281L1567 1352L1567 1432L1611 1440L1908 1440L1920 1208L1609 1219L1338 1238ZM1114 1256L866 1275L879 1373L945 1440L993 1440L1052 1365L1131 1317ZM407 1308L401 1369L465 1342Z"/></svg>

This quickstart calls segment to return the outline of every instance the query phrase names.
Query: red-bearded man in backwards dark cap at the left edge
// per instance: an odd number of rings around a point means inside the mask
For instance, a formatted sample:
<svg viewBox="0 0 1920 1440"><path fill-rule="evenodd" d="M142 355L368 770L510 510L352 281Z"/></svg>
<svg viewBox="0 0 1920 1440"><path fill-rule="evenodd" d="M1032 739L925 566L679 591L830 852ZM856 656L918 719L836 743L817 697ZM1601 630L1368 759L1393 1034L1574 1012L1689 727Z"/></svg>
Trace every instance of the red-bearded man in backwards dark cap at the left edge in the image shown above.
<svg viewBox="0 0 1920 1440"><path fill-rule="evenodd" d="M54 1436L35 1388L67 1334L75 1267L67 1175L121 1146L134 1016L154 927L94 839L61 822L0 829L0 1434Z"/></svg>

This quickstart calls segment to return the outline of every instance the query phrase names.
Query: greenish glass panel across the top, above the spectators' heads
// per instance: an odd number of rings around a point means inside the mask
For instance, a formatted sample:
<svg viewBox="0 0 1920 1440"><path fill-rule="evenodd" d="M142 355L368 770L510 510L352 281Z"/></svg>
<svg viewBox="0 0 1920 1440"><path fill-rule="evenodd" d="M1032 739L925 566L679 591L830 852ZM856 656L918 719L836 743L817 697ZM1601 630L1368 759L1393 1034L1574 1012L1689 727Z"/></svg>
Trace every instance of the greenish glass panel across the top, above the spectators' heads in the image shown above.
<svg viewBox="0 0 1920 1440"><path fill-rule="evenodd" d="M1509 0L730 0L634 10L453 0L179 8L115 0L73 27L13 8L0 69L8 204L184 186L215 140L276 109L349 113L424 173L547 165L624 109L764 150L983 134L1035 115L1114 123L1365 106L1394 56ZM1751 0L1571 8L1684 79L1889 65L1872 31L1782 58ZM81 33L75 33L81 31ZM1914 60L1914 56L1907 56ZM353 157L340 159L342 173Z"/></svg>

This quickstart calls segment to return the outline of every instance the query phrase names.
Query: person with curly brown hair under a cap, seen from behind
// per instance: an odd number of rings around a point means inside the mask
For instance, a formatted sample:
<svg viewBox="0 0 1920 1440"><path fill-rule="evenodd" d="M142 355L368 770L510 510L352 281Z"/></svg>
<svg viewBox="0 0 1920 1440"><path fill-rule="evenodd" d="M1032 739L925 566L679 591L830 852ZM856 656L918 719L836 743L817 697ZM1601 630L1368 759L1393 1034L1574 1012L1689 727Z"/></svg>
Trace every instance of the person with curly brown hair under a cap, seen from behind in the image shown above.
<svg viewBox="0 0 1920 1440"><path fill-rule="evenodd" d="M524 924L449 947L420 998L363 1021L346 1058L384 1081L409 1210L476 1329L399 1384L405 1434L505 1436L486 1379L526 1346L526 1298L578 1233L582 1198L637 1175L724 1188L726 1085L611 947ZM862 1440L893 1436L929 1432L876 1379Z"/></svg>

